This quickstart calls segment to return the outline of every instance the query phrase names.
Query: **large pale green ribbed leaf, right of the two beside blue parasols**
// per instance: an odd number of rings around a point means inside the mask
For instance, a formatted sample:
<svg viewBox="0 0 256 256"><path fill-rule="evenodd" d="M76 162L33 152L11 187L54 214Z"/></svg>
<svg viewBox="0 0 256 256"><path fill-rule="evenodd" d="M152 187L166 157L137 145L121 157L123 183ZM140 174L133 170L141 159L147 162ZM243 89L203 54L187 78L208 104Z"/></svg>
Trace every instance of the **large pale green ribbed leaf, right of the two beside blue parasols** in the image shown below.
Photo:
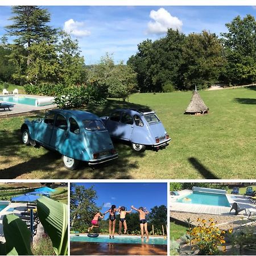
<svg viewBox="0 0 256 256"><path fill-rule="evenodd" d="M68 254L68 209L67 205L49 199L46 196L38 199L38 216L51 238L57 255Z"/></svg>

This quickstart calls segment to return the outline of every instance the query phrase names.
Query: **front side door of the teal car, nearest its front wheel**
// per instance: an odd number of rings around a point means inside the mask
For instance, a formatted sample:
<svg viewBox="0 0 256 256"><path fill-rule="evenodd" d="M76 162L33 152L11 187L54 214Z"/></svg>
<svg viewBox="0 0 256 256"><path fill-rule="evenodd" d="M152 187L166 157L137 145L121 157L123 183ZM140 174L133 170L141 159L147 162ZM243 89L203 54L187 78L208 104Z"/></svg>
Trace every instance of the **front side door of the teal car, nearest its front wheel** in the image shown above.
<svg viewBox="0 0 256 256"><path fill-rule="evenodd" d="M55 113L50 112L46 114L42 122L38 127L38 132L36 134L36 141L43 144L43 146L49 146L51 137L52 137L52 129L54 125L54 117Z"/></svg>

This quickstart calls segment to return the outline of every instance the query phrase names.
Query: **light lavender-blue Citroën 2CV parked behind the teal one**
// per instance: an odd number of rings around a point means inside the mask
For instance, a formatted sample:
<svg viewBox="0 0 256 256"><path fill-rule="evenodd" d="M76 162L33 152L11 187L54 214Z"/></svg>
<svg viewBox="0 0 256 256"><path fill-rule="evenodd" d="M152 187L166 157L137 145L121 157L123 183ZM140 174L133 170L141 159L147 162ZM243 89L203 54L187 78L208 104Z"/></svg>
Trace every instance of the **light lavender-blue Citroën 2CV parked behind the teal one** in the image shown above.
<svg viewBox="0 0 256 256"><path fill-rule="evenodd" d="M131 143L134 151L146 147L159 150L168 146L171 138L155 112L143 109L117 109L109 117L101 117L110 137Z"/></svg>

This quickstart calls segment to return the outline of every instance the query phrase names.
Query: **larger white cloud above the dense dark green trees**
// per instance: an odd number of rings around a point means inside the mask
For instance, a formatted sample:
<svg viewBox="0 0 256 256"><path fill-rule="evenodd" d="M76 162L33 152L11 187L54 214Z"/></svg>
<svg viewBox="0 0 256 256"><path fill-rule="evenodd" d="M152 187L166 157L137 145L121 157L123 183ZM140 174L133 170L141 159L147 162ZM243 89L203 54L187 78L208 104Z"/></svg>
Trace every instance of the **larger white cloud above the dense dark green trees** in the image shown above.
<svg viewBox="0 0 256 256"><path fill-rule="evenodd" d="M165 34L168 28L181 31L183 23L180 19L172 16L164 8L160 8L158 11L150 11L150 18L154 21L150 21L147 24L147 34Z"/></svg>

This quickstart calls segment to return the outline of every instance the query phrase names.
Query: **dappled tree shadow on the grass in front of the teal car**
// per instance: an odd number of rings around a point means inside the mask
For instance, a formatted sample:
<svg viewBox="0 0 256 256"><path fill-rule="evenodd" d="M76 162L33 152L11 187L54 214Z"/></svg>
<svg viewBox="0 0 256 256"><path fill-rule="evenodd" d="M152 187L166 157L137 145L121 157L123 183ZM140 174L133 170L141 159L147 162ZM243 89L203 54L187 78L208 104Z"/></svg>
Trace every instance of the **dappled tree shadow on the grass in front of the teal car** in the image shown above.
<svg viewBox="0 0 256 256"><path fill-rule="evenodd" d="M36 177L40 179L131 179L129 170L139 168L134 158L141 158L144 154L136 154L122 143L115 143L114 146L119 155L117 160L93 168L81 162L78 170L70 171L63 167L58 152L45 150L42 155L40 148L24 146L18 129L0 130L0 166L11 165L7 168L0 167L0 179L35 179L33 172L36 172ZM31 153L36 155L36 150L40 150L38 156L31 156ZM130 159L131 156L133 159ZM18 163L13 163L13 159L17 159ZM28 160L22 162L24 159Z"/></svg>

